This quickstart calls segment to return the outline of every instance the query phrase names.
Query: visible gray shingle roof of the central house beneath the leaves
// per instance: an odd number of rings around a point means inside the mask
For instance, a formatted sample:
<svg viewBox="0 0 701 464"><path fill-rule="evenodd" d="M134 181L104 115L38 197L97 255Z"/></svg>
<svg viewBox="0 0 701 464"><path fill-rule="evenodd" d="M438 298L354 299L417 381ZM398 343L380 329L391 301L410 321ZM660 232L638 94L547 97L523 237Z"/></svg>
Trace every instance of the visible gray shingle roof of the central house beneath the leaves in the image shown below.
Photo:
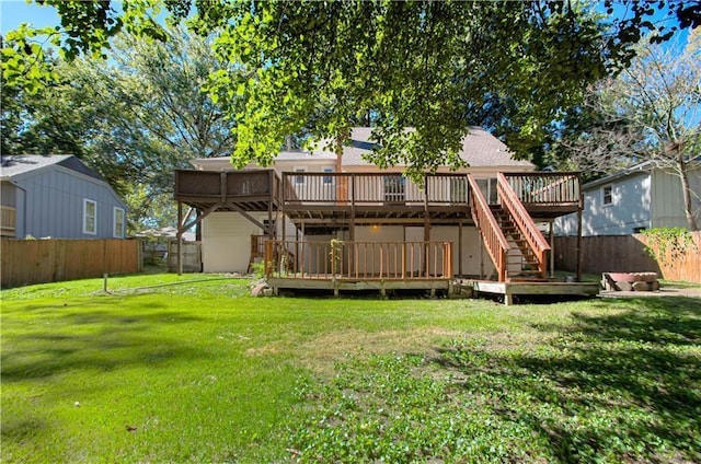
<svg viewBox="0 0 701 464"><path fill-rule="evenodd" d="M363 159L376 147L372 140L371 127L354 127L350 140L343 148L342 163L344 166L369 166L371 162ZM528 166L533 163L515 160L508 147L496 137L479 126L471 126L470 134L462 139L462 158L470 166Z"/></svg>

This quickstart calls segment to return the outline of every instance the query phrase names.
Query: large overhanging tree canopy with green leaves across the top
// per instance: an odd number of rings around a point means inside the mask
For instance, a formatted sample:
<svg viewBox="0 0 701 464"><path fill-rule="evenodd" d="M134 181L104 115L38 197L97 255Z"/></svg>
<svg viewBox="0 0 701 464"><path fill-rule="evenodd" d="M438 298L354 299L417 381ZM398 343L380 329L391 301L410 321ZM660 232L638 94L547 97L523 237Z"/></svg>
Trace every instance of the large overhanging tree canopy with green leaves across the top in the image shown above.
<svg viewBox="0 0 701 464"><path fill-rule="evenodd" d="M162 35L152 20L161 2L124 1L123 14L108 2L47 3L68 31L48 31L67 56L99 53L125 26ZM631 14L607 23L586 2L547 0L164 2L175 19L196 7L194 27L215 32L218 56L235 63L207 85L239 123L235 164L269 162L302 129L342 139L358 114L370 114L382 141L372 161L402 161L413 173L458 164L459 141L479 113L528 156L587 84L630 60L641 32L657 31L658 40L674 32L648 21L658 9L681 26L700 22L696 3L605 2L612 3ZM11 38L4 72L31 84L23 70L34 44L26 34Z"/></svg>

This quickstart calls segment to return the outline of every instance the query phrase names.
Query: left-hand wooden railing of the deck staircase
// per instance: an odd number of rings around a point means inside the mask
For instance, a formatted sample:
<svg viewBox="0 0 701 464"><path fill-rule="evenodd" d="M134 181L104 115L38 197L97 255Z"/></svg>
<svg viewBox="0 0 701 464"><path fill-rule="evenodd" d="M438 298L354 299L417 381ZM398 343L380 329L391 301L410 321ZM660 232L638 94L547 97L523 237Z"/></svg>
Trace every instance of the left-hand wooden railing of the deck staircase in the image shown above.
<svg viewBox="0 0 701 464"><path fill-rule="evenodd" d="M508 242L490 209L490 204L484 198L472 174L468 174L468 184L470 185L469 201L472 219L482 234L492 262L494 262L494 266L498 272L498 281L504 282L506 281L506 253L509 248Z"/></svg>

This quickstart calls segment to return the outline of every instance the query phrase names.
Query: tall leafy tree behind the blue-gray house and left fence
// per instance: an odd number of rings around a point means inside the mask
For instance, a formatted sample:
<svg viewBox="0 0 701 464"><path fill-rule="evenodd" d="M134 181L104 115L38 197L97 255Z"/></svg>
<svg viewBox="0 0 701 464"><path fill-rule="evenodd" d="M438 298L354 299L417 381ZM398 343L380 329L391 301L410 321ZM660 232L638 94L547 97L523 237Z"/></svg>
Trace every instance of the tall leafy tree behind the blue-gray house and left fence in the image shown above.
<svg viewBox="0 0 701 464"><path fill-rule="evenodd" d="M173 225L173 170L233 147L233 123L202 91L221 67L208 40L164 31L164 42L117 36L108 61L59 59L54 82L37 93L3 89L3 104L5 95L13 103L3 105L3 131L5 119L21 121L12 144L3 132L3 152L82 158L131 205L131 232Z"/></svg>

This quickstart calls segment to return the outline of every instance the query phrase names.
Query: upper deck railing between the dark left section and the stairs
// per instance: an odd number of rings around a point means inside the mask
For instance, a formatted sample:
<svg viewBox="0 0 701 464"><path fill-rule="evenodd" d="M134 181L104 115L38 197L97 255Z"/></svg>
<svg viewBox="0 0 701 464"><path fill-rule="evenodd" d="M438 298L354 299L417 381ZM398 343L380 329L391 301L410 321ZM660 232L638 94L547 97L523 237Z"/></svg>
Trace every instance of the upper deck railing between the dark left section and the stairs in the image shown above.
<svg viewBox="0 0 701 464"><path fill-rule="evenodd" d="M464 174L427 174L423 184L401 173L283 173L286 204L464 205ZM294 195L291 195L294 194Z"/></svg>

